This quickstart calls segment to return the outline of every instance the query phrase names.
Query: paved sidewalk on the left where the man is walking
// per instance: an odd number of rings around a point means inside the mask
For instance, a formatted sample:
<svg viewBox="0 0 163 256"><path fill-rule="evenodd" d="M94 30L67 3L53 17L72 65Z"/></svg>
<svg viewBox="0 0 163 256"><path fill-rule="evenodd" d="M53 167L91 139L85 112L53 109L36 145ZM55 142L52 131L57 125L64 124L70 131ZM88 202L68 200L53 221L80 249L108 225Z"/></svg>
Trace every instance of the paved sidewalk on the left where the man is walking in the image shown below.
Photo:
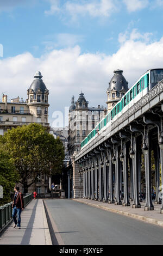
<svg viewBox="0 0 163 256"><path fill-rule="evenodd" d="M42 199L33 199L22 211L20 230L13 225L0 233L0 245L52 245Z"/></svg>

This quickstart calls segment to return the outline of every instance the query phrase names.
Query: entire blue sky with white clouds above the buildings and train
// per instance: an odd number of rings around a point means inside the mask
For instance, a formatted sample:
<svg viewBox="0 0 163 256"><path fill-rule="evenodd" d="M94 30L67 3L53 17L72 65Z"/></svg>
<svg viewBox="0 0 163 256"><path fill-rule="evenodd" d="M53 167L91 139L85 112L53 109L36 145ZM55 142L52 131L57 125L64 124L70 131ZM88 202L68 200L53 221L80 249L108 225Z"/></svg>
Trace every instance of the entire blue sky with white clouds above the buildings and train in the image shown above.
<svg viewBox="0 0 163 256"><path fill-rule="evenodd" d="M81 91L106 107L115 69L131 87L163 68L162 11L163 0L0 0L0 100L26 100L39 70L51 126Z"/></svg>

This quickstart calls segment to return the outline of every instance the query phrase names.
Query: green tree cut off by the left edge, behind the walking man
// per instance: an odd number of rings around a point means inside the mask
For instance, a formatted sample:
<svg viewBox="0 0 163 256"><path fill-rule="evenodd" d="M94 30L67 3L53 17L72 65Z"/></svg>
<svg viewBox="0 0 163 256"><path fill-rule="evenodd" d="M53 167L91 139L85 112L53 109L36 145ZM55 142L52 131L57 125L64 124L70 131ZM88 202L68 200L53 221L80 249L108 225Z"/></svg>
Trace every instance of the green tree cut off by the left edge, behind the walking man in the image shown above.
<svg viewBox="0 0 163 256"><path fill-rule="evenodd" d="M0 205L11 202L10 193L14 193L15 182L18 181L18 173L10 155L0 149L0 185L3 186L3 199Z"/></svg>

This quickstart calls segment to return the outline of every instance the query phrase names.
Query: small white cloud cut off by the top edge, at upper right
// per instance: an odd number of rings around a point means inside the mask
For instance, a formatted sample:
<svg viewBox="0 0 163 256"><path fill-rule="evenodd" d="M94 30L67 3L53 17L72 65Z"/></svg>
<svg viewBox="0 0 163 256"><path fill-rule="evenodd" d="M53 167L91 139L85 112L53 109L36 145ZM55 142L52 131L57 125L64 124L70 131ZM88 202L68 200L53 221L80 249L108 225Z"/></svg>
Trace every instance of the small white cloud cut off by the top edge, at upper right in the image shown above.
<svg viewBox="0 0 163 256"><path fill-rule="evenodd" d="M147 7L149 4L148 0L123 0L123 3L126 4L128 11L141 10Z"/></svg>

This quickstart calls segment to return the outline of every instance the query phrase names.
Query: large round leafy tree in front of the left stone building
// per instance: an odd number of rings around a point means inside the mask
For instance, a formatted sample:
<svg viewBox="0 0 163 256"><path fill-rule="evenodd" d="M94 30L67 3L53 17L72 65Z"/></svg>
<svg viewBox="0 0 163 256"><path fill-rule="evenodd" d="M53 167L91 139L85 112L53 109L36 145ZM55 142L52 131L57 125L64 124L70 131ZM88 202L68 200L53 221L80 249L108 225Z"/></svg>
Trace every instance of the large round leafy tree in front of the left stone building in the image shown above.
<svg viewBox="0 0 163 256"><path fill-rule="evenodd" d="M4 149L11 154L19 182L24 193L41 173L60 173L64 160L64 147L59 138L55 139L40 124L23 125L5 133ZM29 182L30 179L30 182Z"/></svg>

